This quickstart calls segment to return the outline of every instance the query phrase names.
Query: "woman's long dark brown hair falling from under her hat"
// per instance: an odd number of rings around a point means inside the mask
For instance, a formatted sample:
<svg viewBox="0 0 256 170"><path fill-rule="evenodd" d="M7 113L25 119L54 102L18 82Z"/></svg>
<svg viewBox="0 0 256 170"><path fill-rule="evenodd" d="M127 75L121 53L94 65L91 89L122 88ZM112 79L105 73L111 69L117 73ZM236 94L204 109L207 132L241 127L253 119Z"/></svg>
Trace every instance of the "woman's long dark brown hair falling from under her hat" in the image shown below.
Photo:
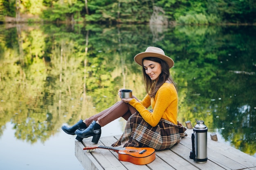
<svg viewBox="0 0 256 170"><path fill-rule="evenodd" d="M158 91L158 89L164 84L164 82L169 81L171 82L177 91L177 85L175 84L175 82L173 81L173 79L170 76L170 71L169 71L169 66L168 64L157 57L145 57L142 59L142 63L144 60L150 60L153 62L158 62L159 64L161 64L161 68L162 68L162 72L159 75L159 79L157 80L157 82L155 82L155 80L151 80L150 77L146 74L146 70L144 67L142 67L142 71L143 71L143 77L144 77L144 86L146 88L146 92L148 93L148 95L150 97L155 98L155 95Z"/></svg>

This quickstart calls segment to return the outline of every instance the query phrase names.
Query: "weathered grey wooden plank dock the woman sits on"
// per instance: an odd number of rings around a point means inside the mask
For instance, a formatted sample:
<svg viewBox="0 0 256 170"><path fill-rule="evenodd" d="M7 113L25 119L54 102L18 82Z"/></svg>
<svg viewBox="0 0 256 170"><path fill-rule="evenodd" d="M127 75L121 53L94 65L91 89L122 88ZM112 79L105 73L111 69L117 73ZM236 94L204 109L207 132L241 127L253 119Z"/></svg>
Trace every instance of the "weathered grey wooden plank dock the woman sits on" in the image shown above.
<svg viewBox="0 0 256 170"><path fill-rule="evenodd" d="M93 152L83 150L85 146L111 146L121 135L101 137L99 143L92 144L92 138L83 142L75 141L75 155L85 170L256 170L256 158L241 152L227 144L211 140L207 135L206 163L195 163L189 158L192 150L191 134L187 129L187 137L169 150L156 152L156 159L147 165L135 165L119 161L117 152L96 149Z"/></svg>

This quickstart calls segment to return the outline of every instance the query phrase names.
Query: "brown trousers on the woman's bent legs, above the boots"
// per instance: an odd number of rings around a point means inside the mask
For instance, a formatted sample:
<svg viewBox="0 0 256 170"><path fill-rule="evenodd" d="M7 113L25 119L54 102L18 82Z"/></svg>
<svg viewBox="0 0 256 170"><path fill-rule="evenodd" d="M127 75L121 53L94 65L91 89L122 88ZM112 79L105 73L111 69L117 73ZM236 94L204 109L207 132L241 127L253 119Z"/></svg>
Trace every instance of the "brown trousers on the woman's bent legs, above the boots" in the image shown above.
<svg viewBox="0 0 256 170"><path fill-rule="evenodd" d="M107 108L106 110L85 119L85 124L88 127L92 121L98 120L99 125L103 127L119 117L123 117L124 119L128 120L128 118L135 112L137 112L137 110L130 104L120 101L112 105L110 108Z"/></svg>

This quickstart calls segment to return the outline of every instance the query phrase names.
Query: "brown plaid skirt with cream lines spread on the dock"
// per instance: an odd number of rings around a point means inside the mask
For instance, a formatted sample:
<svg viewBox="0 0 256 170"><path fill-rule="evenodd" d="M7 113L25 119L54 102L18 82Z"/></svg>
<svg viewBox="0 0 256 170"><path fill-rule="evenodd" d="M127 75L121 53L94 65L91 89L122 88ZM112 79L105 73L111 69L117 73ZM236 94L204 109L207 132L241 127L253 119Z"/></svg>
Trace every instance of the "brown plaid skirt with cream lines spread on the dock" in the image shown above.
<svg viewBox="0 0 256 170"><path fill-rule="evenodd" d="M157 126L150 126L139 114L134 113L129 117L123 135L111 146L123 147L150 147L155 150L171 148L187 136L186 128L178 122L178 125L165 119L161 119Z"/></svg>

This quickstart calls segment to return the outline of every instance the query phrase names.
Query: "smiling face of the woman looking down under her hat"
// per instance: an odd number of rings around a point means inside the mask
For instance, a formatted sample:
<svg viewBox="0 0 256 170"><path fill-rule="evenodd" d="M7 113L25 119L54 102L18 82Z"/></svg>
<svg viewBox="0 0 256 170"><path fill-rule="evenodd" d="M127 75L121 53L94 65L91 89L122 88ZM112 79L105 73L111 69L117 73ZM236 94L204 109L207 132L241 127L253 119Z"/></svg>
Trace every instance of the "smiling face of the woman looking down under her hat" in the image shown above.
<svg viewBox="0 0 256 170"><path fill-rule="evenodd" d="M151 80L157 81L159 79L159 75L162 73L161 64L150 60L144 60L143 67Z"/></svg>

